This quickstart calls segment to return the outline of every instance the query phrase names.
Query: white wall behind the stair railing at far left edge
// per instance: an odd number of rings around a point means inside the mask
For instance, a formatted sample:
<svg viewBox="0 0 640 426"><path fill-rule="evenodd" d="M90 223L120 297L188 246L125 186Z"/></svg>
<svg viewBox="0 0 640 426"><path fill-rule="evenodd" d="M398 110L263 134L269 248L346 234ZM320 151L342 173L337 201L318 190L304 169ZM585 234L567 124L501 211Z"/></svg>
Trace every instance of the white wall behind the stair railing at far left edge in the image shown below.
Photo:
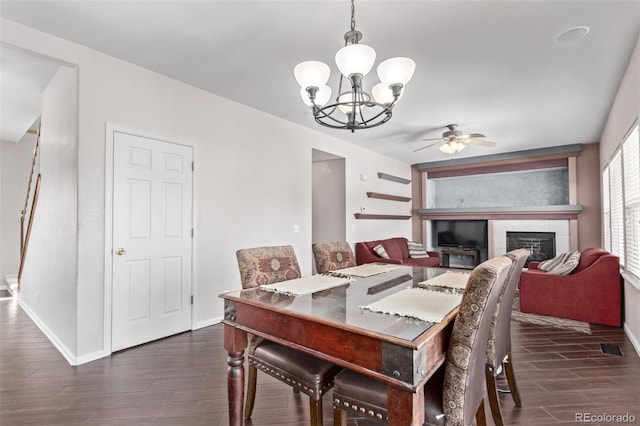
<svg viewBox="0 0 640 426"><path fill-rule="evenodd" d="M26 134L18 143L0 142L0 286L20 266L20 212L27 195L36 136Z"/></svg>

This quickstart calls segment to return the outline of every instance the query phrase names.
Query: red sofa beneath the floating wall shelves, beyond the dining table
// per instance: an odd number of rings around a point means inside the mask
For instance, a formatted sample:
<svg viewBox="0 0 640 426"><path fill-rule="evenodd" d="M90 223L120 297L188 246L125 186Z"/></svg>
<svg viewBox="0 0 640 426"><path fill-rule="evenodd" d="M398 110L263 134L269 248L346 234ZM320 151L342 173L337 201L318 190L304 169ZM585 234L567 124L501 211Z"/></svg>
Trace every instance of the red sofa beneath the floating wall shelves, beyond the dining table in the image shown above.
<svg viewBox="0 0 640 426"><path fill-rule="evenodd" d="M378 244L382 244L390 259L384 259L373 251L373 248ZM394 263L408 266L440 266L440 253L437 251L427 251L427 253L429 257L415 259L409 257L407 239L403 237L356 243L356 263L358 265L365 263Z"/></svg>

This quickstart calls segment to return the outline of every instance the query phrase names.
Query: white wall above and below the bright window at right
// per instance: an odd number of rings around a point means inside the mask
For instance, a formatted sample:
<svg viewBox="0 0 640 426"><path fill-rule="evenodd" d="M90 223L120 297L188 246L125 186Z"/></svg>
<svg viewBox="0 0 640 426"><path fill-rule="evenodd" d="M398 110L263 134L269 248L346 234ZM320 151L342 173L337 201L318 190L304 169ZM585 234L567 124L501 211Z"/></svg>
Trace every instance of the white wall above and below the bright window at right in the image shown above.
<svg viewBox="0 0 640 426"><path fill-rule="evenodd" d="M640 38L618 88L618 94L600 140L600 170L604 169L619 149L625 133L638 117L640 117ZM624 327L636 351L640 354L640 280L628 275L624 278Z"/></svg>

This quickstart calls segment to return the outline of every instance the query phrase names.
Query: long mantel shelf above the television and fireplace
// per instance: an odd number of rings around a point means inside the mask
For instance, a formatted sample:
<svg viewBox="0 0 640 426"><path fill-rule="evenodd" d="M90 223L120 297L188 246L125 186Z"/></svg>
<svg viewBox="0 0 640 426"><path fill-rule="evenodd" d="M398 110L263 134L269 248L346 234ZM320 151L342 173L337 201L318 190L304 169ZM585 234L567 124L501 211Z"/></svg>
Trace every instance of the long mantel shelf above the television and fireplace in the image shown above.
<svg viewBox="0 0 640 426"><path fill-rule="evenodd" d="M577 219L580 204L522 207L466 207L451 209L418 209L425 220L438 219Z"/></svg>

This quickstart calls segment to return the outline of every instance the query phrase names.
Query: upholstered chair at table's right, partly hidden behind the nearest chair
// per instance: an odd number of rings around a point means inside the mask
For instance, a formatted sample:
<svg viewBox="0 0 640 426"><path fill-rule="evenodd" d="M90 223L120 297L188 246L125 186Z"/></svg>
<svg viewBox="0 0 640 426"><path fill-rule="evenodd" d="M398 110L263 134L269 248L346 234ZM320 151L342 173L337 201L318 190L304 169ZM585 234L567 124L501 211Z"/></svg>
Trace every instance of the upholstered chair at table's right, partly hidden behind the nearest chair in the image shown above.
<svg viewBox="0 0 640 426"><path fill-rule="evenodd" d="M498 403L497 377L501 372L507 378L509 391L516 407L521 407L520 392L516 385L516 376L513 370L513 358L511 356L511 311L513 298L520 282L520 273L524 263L529 257L529 250L517 249L506 254L505 257L511 259L512 264L507 277L507 284L504 292L498 298L498 305L489 328L489 338L487 339L487 393L489 395L489 405L491 414L496 426L502 426L502 414Z"/></svg>

